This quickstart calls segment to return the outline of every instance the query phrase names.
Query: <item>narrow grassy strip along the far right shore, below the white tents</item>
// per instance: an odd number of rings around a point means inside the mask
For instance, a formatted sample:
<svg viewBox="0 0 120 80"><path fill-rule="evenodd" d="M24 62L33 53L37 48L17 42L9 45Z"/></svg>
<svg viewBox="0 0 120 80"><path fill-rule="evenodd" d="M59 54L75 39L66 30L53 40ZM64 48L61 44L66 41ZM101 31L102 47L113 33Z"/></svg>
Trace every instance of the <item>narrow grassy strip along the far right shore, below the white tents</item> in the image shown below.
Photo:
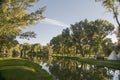
<svg viewBox="0 0 120 80"><path fill-rule="evenodd" d="M108 67L108 68L120 70L120 61L95 60L95 59L70 57L70 56L54 56L54 57L72 59L72 60L76 60L76 61L81 62L81 63L87 63L87 64L96 65L96 66L102 66L102 67Z"/></svg>

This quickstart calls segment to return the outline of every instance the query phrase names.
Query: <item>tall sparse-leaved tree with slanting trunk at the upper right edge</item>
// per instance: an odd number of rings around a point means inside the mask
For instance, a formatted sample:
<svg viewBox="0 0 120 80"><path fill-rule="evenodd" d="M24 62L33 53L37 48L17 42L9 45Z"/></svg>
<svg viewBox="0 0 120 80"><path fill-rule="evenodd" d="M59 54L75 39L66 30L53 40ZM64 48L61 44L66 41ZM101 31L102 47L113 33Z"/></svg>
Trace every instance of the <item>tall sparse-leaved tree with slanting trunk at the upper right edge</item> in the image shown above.
<svg viewBox="0 0 120 80"><path fill-rule="evenodd" d="M120 20L119 20L119 9L120 9L120 0L95 0L96 2L102 2L103 7L113 14L113 18L118 24L116 35L118 42L115 44L116 51L120 51Z"/></svg>

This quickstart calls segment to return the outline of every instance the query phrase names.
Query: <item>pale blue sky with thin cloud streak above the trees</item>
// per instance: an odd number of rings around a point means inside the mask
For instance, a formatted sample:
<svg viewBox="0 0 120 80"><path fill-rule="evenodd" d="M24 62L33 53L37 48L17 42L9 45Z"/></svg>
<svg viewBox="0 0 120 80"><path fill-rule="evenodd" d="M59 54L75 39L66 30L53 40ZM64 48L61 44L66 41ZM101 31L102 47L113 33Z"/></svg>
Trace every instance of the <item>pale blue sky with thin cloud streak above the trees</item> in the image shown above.
<svg viewBox="0 0 120 80"><path fill-rule="evenodd" d="M20 43L41 43L45 45L50 40L60 34L63 29L70 27L71 24L88 19L105 19L116 25L113 15L106 11L100 2L95 0L40 0L34 7L28 9L29 12L47 6L43 16L45 20L36 25L29 26L25 31L34 31L37 38L24 40L18 39ZM116 41L115 36L111 36Z"/></svg>

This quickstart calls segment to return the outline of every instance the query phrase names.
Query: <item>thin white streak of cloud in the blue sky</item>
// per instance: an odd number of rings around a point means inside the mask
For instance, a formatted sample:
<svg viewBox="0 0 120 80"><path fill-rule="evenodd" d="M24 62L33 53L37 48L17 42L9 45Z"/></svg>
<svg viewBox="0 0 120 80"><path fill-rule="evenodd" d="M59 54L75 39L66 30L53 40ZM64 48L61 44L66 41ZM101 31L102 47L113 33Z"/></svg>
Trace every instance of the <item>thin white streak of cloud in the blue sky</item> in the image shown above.
<svg viewBox="0 0 120 80"><path fill-rule="evenodd" d="M45 18L43 20L43 22L46 22L46 23L49 23L49 24L52 24L52 25L62 26L62 27L69 27L69 25L67 25L67 24L65 24L61 21L54 20L54 19L49 19L49 18Z"/></svg>

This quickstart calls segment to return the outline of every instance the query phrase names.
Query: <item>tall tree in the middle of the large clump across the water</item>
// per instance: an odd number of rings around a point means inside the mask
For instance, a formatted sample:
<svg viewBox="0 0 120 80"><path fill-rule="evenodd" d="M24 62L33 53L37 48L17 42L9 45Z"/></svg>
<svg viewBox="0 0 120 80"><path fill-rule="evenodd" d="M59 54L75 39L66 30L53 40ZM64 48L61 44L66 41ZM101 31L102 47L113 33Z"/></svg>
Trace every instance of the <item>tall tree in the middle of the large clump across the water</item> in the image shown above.
<svg viewBox="0 0 120 80"><path fill-rule="evenodd" d="M70 29L72 32L72 42L74 43L74 46L76 47L76 54L80 53L83 57L84 54L84 46L86 45L86 33L84 30L84 27L88 24L88 21L80 21L79 23L75 23L74 25L71 25Z"/></svg>

